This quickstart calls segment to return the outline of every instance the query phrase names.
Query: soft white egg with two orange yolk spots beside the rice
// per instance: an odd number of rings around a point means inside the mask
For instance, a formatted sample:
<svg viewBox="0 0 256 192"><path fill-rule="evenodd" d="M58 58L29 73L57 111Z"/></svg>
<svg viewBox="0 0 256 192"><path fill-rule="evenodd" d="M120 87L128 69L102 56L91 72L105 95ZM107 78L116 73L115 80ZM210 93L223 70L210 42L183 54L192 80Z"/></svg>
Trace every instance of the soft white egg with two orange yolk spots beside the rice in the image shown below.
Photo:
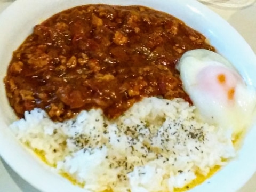
<svg viewBox="0 0 256 192"><path fill-rule="evenodd" d="M209 50L191 50L182 55L177 69L205 122L233 129L233 135L250 125L255 115L255 87L247 85L227 59Z"/></svg>

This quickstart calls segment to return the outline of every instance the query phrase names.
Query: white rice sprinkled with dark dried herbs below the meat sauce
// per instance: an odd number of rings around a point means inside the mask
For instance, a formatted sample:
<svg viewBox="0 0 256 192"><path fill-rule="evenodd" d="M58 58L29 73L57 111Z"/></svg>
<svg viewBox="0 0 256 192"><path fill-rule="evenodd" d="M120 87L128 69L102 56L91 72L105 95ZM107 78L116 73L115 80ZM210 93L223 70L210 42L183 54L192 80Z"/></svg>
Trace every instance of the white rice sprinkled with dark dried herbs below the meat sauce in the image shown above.
<svg viewBox="0 0 256 192"><path fill-rule="evenodd" d="M115 121L92 109L52 122L34 109L10 127L58 172L97 192L173 191L236 153L232 132L202 122L182 99L145 98Z"/></svg>

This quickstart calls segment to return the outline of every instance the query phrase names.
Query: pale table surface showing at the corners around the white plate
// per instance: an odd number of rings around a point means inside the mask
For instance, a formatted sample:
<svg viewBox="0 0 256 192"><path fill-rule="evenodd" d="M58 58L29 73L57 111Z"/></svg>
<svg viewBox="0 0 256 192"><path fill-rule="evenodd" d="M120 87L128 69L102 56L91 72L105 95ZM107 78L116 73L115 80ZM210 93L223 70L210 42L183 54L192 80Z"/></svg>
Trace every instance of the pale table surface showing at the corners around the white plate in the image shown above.
<svg viewBox="0 0 256 192"><path fill-rule="evenodd" d="M13 0L0 0L0 13ZM227 20L249 43L256 53L256 2L242 9L227 9L207 4L210 9ZM1 27L0 27L1 28ZM255 150L256 153L256 150ZM256 162L255 162L256 163ZM1 192L39 192L18 174L16 174L0 157L0 191ZM256 173L238 192L256 191ZM57 191L58 192L58 191ZM223 191L224 192L224 191Z"/></svg>

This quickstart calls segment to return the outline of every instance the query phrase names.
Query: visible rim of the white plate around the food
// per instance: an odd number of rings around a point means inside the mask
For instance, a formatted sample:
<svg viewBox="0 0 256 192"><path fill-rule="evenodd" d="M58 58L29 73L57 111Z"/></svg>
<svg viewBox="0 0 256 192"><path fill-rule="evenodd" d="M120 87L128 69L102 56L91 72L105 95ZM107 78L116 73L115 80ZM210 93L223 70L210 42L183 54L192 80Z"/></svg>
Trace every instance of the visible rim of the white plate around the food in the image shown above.
<svg viewBox="0 0 256 192"><path fill-rule="evenodd" d="M226 21L194 0L17 0L0 17L1 81L12 52L31 33L34 25L69 7L92 3L145 5L174 15L203 33L218 52L234 64L245 81L256 86L256 57L250 46ZM3 83L0 83L0 98L0 154L4 160L41 191L84 191L53 173L50 167L20 145L7 127L15 116L5 97ZM256 126L253 126L239 150L238 157L191 191L228 192L241 188L256 170L255 137Z"/></svg>

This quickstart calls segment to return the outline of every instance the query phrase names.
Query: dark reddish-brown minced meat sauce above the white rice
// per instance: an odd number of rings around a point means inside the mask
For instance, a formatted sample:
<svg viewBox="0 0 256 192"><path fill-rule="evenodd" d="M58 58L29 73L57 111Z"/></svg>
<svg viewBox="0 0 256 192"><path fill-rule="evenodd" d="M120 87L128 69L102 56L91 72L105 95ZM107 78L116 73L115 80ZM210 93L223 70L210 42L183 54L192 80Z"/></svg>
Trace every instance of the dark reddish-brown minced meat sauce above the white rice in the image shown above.
<svg viewBox="0 0 256 192"><path fill-rule="evenodd" d="M183 98L175 64L206 38L143 6L83 5L34 27L4 79L15 113L44 109L54 121L101 108L116 118L143 97Z"/></svg>

